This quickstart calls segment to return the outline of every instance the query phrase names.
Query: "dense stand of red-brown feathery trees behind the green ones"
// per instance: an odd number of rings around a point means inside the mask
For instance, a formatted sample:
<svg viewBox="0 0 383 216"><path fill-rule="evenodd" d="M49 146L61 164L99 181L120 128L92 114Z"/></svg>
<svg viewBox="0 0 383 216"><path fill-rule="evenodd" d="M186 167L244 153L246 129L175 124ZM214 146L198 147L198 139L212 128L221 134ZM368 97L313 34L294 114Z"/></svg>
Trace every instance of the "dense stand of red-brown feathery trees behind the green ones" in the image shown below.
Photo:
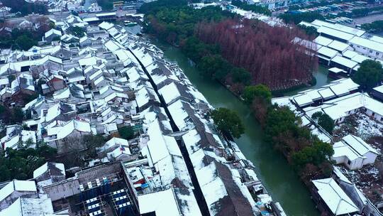
<svg viewBox="0 0 383 216"><path fill-rule="evenodd" d="M311 80L316 57L294 44L295 37L307 38L296 28L271 27L254 20L227 19L220 23L199 23L196 35L205 43L218 43L222 55L252 75L252 84L284 90Z"/></svg>

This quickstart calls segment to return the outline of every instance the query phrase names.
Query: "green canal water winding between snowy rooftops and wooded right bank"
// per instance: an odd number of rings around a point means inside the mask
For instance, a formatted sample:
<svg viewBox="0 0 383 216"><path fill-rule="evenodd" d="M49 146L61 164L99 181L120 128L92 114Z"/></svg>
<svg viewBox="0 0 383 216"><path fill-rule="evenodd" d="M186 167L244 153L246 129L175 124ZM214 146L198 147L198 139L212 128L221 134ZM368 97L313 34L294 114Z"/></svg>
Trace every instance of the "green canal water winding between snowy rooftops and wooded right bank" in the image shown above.
<svg viewBox="0 0 383 216"><path fill-rule="evenodd" d="M158 41L152 41L152 43L165 52L167 60L178 63L189 80L204 94L213 107L227 107L238 112L245 125L245 134L235 141L245 156L254 164L258 178L262 180L267 191L274 200L281 203L287 215L319 215L310 198L309 190L299 180L286 159L282 154L270 148L269 144L262 141L262 129L256 119L252 117L248 107L222 85L199 75L199 71L189 64L186 56L178 48ZM324 68L319 68L315 76L317 86L327 83Z"/></svg>

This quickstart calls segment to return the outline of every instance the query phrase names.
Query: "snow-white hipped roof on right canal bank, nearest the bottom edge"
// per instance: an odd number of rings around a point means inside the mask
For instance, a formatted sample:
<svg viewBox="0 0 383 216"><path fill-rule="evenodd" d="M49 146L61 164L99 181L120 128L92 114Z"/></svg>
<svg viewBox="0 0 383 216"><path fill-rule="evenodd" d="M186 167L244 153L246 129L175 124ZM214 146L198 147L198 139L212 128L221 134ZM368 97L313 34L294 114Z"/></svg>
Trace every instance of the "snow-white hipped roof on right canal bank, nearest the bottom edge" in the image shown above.
<svg viewBox="0 0 383 216"><path fill-rule="evenodd" d="M313 180L318 194L334 215L358 212L359 209L333 178Z"/></svg>

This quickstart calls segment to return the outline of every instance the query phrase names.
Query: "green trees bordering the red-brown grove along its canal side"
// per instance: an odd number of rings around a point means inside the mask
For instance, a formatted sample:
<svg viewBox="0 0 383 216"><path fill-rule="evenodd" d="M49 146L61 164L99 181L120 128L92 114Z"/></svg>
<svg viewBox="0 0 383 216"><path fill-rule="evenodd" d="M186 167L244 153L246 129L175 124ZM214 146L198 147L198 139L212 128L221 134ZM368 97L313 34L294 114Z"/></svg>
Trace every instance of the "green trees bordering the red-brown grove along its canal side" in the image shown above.
<svg viewBox="0 0 383 216"><path fill-rule="evenodd" d="M237 94L240 94L243 87L250 85L250 72L228 62L221 55L220 45L204 43L194 33L197 23L201 21L221 21L235 14L213 6L201 10L192 9L186 1L173 0L143 4L140 12L145 13L145 21L148 23L145 31L162 41L180 46L202 75L231 85L231 90Z"/></svg>

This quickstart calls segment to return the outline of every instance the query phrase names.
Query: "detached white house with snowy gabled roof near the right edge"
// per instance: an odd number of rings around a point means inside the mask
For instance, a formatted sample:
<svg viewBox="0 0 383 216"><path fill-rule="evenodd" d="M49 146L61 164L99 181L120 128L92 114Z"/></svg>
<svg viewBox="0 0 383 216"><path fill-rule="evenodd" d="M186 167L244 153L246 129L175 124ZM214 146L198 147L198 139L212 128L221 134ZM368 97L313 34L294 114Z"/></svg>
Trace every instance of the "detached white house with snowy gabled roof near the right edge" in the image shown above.
<svg viewBox="0 0 383 216"><path fill-rule="evenodd" d="M343 163L350 170L357 170L366 164L374 163L379 155L376 149L353 134L349 134L343 137L342 141L336 142L333 149L335 163Z"/></svg>

